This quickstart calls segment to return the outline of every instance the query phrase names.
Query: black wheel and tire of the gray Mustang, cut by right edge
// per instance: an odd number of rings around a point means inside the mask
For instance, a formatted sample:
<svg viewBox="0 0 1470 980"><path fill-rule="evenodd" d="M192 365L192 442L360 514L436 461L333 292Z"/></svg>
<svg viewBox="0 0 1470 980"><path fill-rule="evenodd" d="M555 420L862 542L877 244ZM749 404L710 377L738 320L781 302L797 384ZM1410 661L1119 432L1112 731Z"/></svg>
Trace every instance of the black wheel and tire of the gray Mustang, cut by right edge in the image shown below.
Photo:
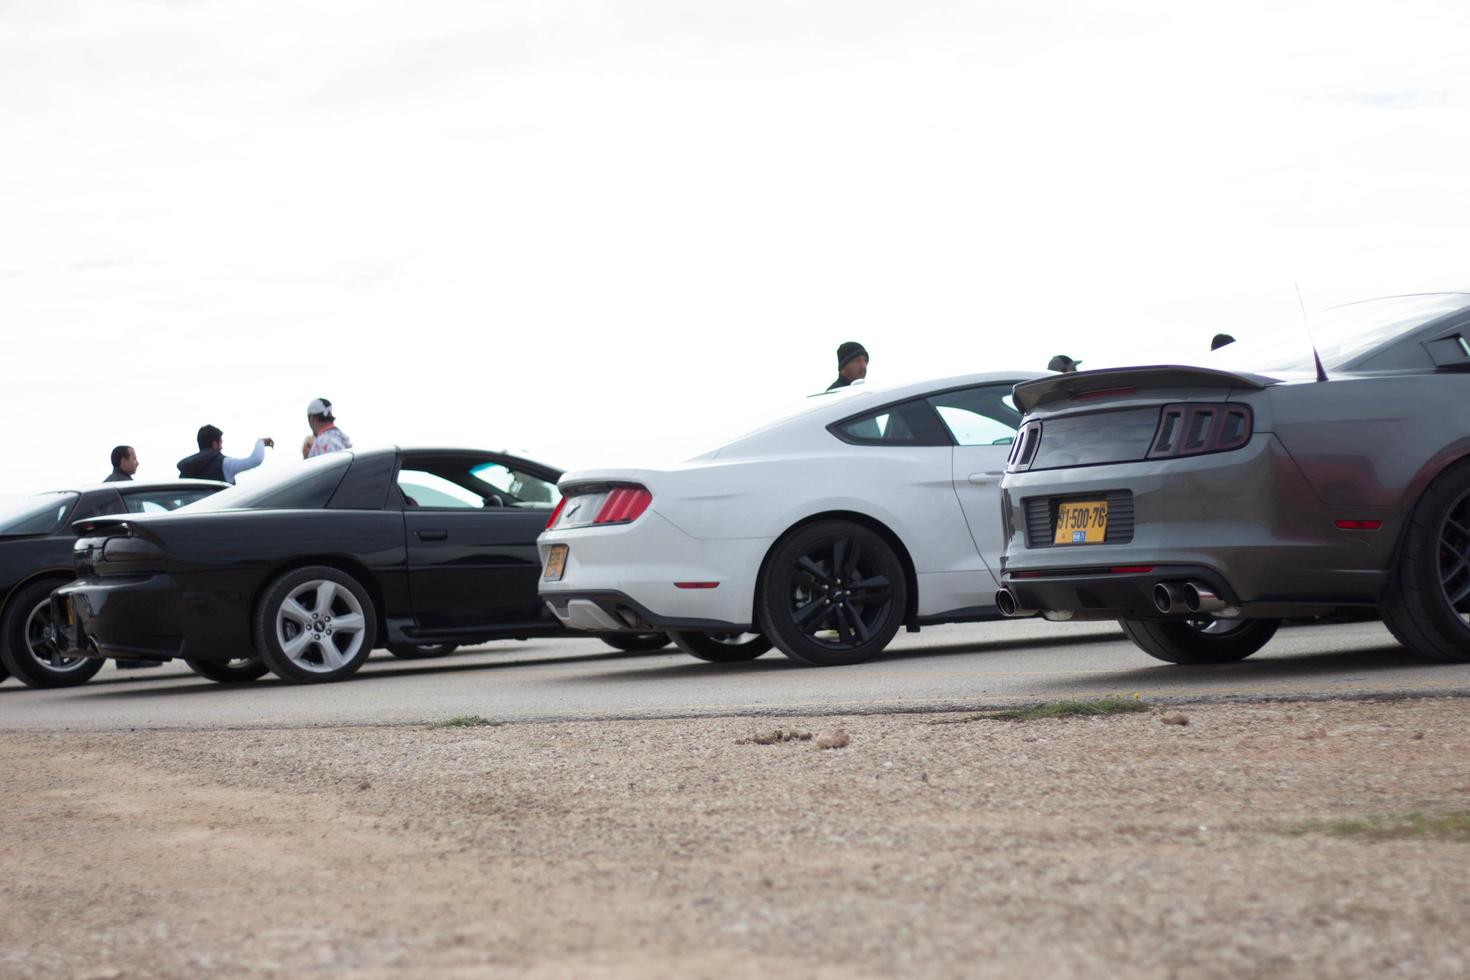
<svg viewBox="0 0 1470 980"><path fill-rule="evenodd" d="M1404 529L1383 624L1430 660L1470 660L1470 464L1430 483Z"/></svg>

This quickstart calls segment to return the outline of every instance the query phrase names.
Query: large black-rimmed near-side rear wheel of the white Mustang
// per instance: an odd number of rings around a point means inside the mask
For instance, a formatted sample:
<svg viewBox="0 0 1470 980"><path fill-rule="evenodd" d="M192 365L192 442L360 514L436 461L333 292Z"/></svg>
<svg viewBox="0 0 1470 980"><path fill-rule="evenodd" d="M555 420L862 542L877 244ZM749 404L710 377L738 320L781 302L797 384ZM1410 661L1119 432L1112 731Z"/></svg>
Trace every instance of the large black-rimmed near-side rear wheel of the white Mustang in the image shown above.
<svg viewBox="0 0 1470 980"><path fill-rule="evenodd" d="M888 541L847 520L822 520L772 551L756 610L761 632L791 660L858 664L883 652L908 602L904 566Z"/></svg>

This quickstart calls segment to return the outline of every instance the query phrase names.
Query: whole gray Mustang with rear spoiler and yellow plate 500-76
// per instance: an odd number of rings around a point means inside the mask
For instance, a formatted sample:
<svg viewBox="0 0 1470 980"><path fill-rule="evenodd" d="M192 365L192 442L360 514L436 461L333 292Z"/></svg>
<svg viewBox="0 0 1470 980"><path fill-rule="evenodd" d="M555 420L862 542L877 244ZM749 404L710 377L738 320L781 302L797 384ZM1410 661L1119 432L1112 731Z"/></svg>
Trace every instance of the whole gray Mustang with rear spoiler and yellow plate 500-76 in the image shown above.
<svg viewBox="0 0 1470 980"><path fill-rule="evenodd" d="M1160 660L1213 664L1360 607L1470 660L1470 292L1311 332L1316 356L1236 344L1017 385L1001 611L1116 617Z"/></svg>

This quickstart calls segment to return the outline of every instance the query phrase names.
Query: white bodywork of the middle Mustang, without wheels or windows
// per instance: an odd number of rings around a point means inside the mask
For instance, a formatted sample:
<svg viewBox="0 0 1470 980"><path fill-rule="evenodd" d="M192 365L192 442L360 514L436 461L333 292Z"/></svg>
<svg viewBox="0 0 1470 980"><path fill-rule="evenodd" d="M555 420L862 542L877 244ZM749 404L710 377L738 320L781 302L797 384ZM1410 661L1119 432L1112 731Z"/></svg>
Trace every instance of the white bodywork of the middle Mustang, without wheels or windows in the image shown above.
<svg viewBox="0 0 1470 980"><path fill-rule="evenodd" d="M773 545L797 525L845 516L885 529L907 552L910 629L1000 619L1000 479L1010 439L979 425L975 439L995 438L957 445L964 420L951 416L948 445L851 444L828 426L939 392L986 386L1004 395L1038 376L857 383L684 463L566 473L566 501L538 539L542 566L554 545L567 545L564 569L557 580L542 576L541 597L573 629L759 630L756 588ZM632 523L591 523L619 485L647 488L647 510Z"/></svg>

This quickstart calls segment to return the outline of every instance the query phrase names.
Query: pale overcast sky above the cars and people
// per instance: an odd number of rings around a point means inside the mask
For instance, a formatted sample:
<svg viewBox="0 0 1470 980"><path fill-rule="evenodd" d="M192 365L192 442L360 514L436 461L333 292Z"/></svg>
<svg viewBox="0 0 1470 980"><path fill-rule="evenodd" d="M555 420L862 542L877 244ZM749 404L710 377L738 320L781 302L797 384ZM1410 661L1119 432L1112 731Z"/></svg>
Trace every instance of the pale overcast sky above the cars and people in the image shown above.
<svg viewBox="0 0 1470 980"><path fill-rule="evenodd" d="M0 0L0 495L194 430L644 458L1470 285L1470 4ZM248 476L244 479L250 479Z"/></svg>

